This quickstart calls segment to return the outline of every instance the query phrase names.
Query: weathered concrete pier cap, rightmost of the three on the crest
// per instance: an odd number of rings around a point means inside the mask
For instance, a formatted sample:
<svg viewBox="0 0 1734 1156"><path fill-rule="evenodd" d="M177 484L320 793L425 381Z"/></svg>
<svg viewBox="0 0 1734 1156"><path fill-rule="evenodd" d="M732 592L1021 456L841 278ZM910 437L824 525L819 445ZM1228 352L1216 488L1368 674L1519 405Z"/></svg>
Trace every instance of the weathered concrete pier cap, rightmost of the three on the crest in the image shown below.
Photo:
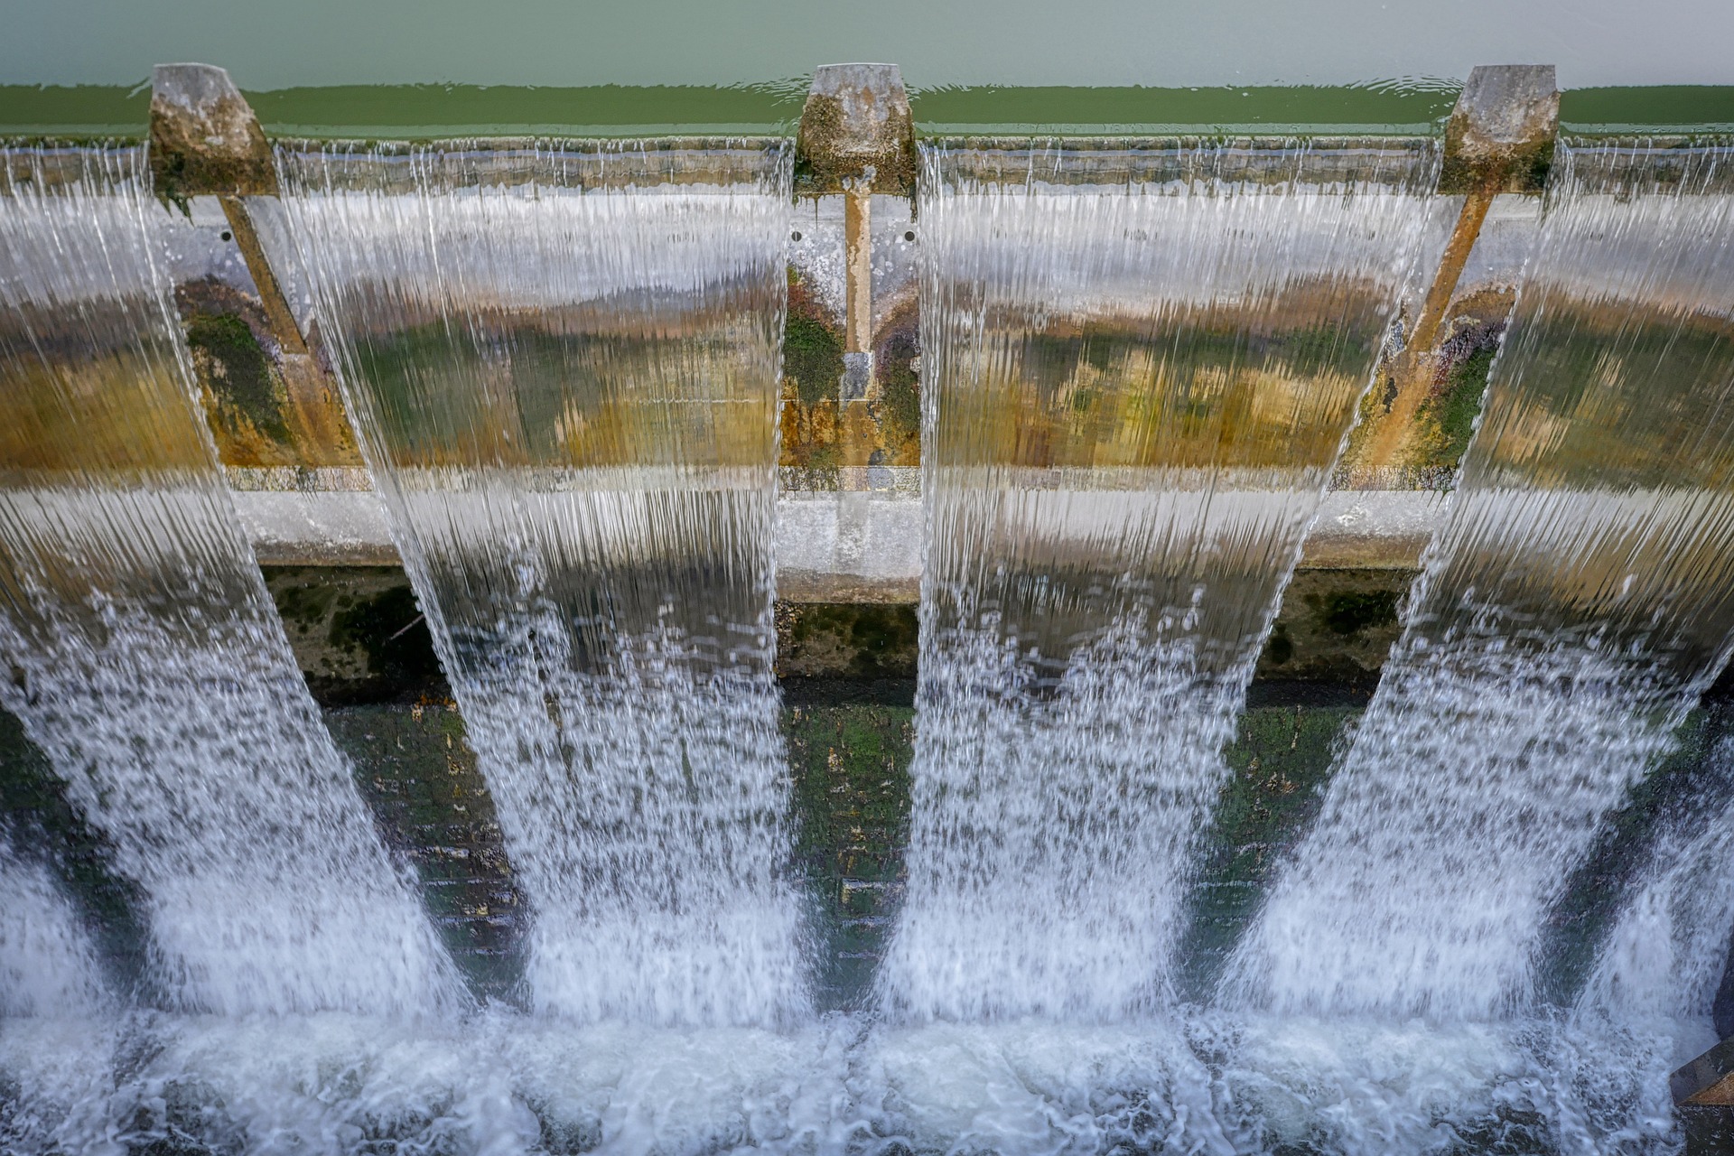
<svg viewBox="0 0 1734 1156"><path fill-rule="evenodd" d="M1557 135L1552 64L1481 64L1444 128L1439 192L1542 192Z"/></svg>

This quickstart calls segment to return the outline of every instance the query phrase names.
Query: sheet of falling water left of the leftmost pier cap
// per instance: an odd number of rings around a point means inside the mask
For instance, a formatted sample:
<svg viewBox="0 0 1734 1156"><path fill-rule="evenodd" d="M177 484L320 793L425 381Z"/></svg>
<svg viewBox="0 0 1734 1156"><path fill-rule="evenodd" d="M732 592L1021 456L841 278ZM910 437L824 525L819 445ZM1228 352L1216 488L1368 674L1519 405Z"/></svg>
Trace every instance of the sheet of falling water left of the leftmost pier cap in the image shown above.
<svg viewBox="0 0 1734 1156"><path fill-rule="evenodd" d="M0 151L0 702L140 886L173 1005L427 1007L432 932L192 395L142 151Z"/></svg>

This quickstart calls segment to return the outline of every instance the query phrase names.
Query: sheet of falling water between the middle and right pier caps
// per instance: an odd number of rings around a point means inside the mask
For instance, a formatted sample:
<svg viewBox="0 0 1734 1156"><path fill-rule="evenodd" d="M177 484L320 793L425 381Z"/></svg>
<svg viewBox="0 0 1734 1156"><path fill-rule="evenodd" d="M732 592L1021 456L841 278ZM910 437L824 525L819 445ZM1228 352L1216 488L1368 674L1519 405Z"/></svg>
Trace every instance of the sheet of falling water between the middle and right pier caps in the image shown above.
<svg viewBox="0 0 1734 1156"><path fill-rule="evenodd" d="M928 149L912 1019L1164 998L1431 144Z"/></svg>

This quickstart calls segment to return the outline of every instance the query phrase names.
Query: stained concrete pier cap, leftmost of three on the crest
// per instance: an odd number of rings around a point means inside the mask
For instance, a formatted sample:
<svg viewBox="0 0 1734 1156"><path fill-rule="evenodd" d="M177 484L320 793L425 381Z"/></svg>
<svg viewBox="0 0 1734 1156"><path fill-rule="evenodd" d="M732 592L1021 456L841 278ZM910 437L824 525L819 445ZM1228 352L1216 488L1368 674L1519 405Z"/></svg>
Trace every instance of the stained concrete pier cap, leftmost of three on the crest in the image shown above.
<svg viewBox="0 0 1734 1156"><path fill-rule="evenodd" d="M274 196L277 173L253 106L215 64L151 71L151 175L156 194Z"/></svg>

